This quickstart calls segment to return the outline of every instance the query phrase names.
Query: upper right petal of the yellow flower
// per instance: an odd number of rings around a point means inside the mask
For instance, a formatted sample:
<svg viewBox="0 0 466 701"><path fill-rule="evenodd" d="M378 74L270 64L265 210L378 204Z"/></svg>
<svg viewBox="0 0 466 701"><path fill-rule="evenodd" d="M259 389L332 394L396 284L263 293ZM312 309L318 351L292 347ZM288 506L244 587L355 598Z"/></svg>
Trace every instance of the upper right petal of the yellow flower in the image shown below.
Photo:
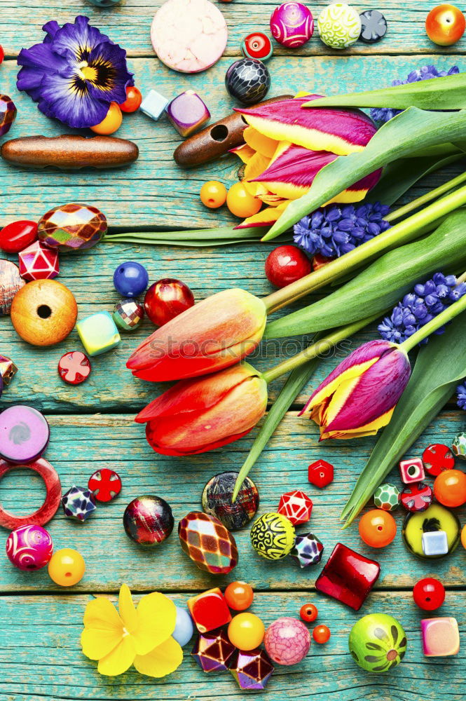
<svg viewBox="0 0 466 701"><path fill-rule="evenodd" d="M161 645L174 631L177 607L164 594L142 597L137 606L137 629L133 633L137 655L146 655Z"/></svg>

